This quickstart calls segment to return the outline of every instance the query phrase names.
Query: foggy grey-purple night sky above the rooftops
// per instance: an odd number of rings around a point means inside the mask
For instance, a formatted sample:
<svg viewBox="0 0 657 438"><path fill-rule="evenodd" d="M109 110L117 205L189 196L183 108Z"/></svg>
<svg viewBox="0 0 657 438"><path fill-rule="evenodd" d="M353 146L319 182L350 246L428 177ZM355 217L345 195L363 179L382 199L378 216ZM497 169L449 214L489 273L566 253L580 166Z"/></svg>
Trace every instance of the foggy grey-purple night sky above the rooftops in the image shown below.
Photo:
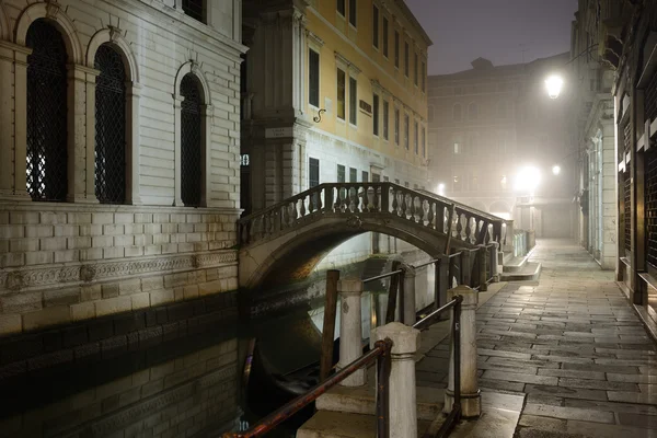
<svg viewBox="0 0 657 438"><path fill-rule="evenodd" d="M577 0L405 0L434 45L429 74L495 66L568 51Z"/></svg>

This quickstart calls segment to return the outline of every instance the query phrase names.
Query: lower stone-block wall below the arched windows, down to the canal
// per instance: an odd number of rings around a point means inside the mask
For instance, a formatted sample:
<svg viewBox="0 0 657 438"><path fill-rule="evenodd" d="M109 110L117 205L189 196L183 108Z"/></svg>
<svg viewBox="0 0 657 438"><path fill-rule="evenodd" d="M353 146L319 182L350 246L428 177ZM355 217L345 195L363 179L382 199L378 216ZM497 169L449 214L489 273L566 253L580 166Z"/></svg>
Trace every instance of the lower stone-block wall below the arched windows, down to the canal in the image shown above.
<svg viewBox="0 0 657 438"><path fill-rule="evenodd" d="M234 214L38 207L0 212L0 334L238 287Z"/></svg>

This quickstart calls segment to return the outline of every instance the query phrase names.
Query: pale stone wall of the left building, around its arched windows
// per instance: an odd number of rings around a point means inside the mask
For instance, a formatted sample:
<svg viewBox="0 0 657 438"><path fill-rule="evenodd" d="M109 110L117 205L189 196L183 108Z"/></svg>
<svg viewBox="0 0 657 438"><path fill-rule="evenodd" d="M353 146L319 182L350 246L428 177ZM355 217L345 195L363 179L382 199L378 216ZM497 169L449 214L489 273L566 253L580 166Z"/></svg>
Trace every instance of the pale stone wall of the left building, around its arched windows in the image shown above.
<svg viewBox="0 0 657 438"><path fill-rule="evenodd" d="M0 2L0 336L233 290L240 215L239 0ZM26 191L25 33L44 19L68 53L68 193ZM126 83L126 205L95 195L99 46ZM181 200L182 77L201 89L201 207Z"/></svg>

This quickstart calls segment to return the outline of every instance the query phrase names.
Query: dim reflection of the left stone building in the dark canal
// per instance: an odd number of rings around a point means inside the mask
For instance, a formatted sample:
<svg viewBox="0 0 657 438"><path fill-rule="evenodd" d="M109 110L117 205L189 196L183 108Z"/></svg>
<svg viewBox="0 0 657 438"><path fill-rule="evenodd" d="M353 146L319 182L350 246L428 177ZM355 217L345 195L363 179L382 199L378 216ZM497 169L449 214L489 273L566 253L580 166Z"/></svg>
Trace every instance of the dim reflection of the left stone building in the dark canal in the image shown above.
<svg viewBox="0 0 657 438"><path fill-rule="evenodd" d="M242 415L239 344L227 327L2 381L0 436L220 436Z"/></svg>

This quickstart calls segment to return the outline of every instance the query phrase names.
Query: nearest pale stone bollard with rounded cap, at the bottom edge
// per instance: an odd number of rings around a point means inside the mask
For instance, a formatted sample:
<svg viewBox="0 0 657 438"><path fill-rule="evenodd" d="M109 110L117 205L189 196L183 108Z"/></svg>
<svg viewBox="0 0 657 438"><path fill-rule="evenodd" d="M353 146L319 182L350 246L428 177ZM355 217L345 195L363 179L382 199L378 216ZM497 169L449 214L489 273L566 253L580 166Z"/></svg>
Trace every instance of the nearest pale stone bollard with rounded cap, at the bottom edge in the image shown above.
<svg viewBox="0 0 657 438"><path fill-rule="evenodd" d="M399 322L377 327L377 341L392 341L389 411L390 438L417 437L417 401L415 388L415 353L419 348L419 331Z"/></svg>

